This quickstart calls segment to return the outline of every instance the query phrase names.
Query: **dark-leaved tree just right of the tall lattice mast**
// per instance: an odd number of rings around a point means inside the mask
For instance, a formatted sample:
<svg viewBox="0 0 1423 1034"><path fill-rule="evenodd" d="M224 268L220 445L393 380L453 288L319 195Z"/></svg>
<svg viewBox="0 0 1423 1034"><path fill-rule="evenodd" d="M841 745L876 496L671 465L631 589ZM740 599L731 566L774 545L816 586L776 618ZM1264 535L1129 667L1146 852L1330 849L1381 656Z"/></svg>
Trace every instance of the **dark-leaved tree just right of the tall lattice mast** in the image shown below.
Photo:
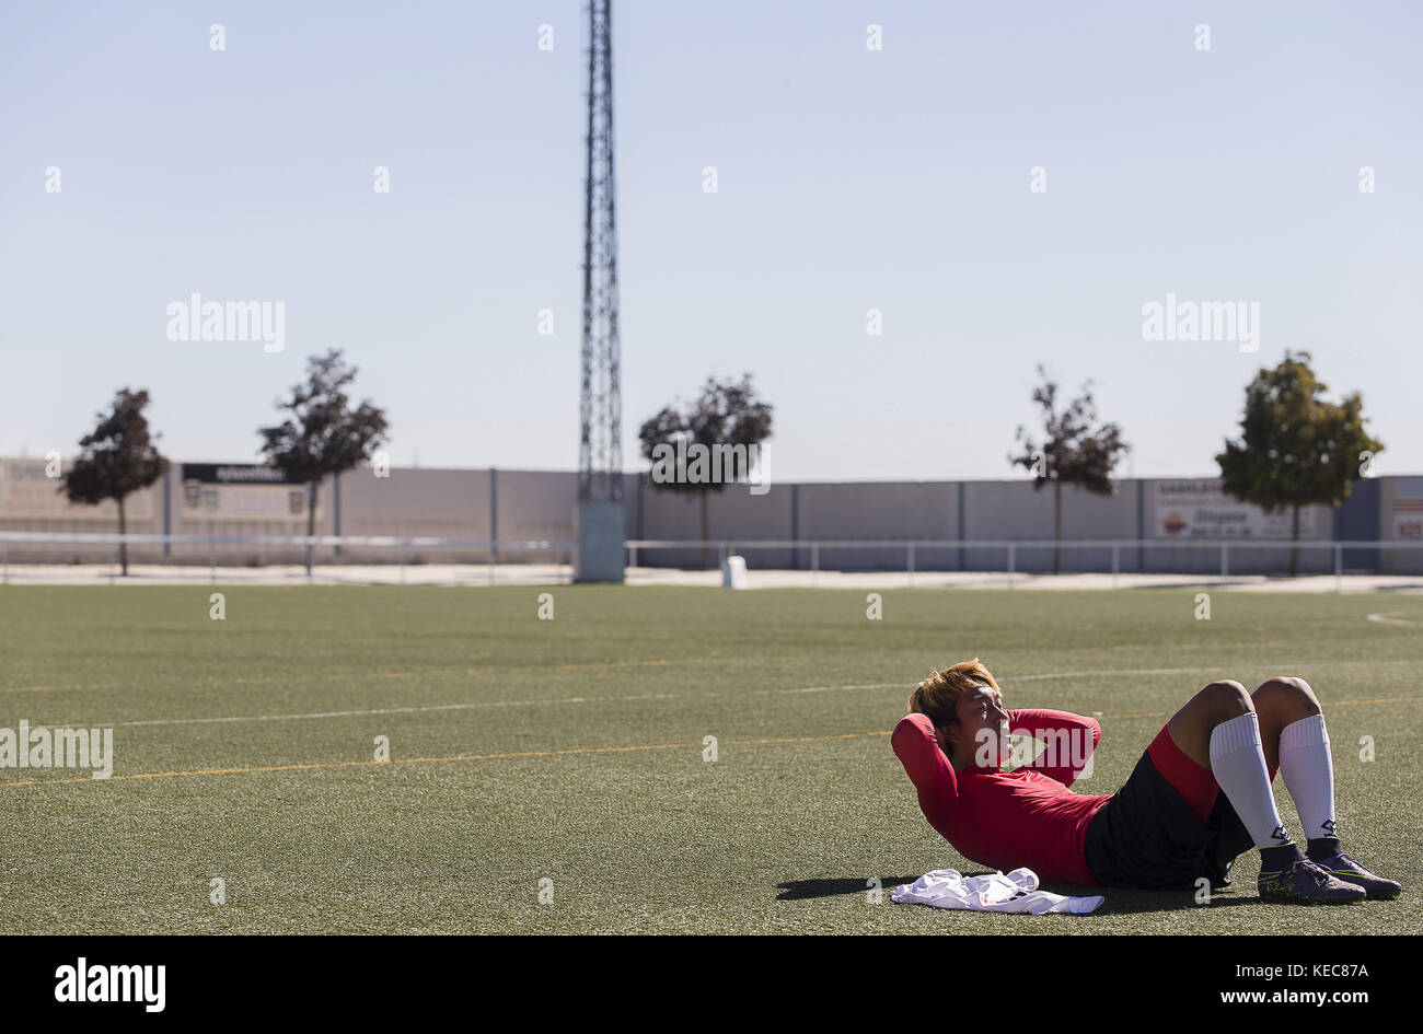
<svg viewBox="0 0 1423 1034"><path fill-rule="evenodd" d="M750 478L761 442L770 437L771 405L756 397L751 374L743 374L740 381L707 377L696 401L682 410L675 404L663 407L638 432L643 458L655 464L653 484L700 498L703 567L709 566L710 494ZM670 468L673 457L676 467ZM731 461L741 464L740 476Z"/></svg>

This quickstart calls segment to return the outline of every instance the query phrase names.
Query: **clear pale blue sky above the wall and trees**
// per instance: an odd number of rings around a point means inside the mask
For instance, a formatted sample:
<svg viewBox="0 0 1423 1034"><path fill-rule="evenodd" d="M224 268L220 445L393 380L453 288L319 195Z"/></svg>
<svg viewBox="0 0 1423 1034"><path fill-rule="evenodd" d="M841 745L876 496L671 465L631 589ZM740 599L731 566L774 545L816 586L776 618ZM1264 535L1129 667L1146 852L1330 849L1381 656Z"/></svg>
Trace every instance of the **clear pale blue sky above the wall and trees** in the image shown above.
<svg viewBox="0 0 1423 1034"><path fill-rule="evenodd" d="M586 31L575 0L0 1L0 455L73 454L134 385L169 455L253 459L342 347L394 464L572 469ZM1096 381L1120 474L1208 475L1305 348L1376 472L1423 471L1423 4L613 0L613 53L628 469L750 371L777 479L1023 476L1046 363ZM168 340L194 292L285 303L285 350ZM1143 340L1167 293L1258 303L1259 351Z"/></svg>

